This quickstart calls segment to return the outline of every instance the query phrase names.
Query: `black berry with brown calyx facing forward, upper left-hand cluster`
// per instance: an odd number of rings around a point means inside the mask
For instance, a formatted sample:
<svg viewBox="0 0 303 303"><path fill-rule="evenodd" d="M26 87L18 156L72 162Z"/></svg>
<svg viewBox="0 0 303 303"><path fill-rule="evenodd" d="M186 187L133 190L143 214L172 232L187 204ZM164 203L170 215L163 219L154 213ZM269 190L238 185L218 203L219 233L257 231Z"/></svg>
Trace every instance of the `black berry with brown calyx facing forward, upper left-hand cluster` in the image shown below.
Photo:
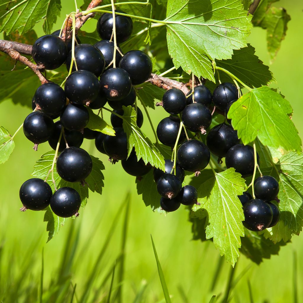
<svg viewBox="0 0 303 303"><path fill-rule="evenodd" d="M122 100L131 92L132 81L122 68L111 68L100 76L100 87L111 101Z"/></svg>

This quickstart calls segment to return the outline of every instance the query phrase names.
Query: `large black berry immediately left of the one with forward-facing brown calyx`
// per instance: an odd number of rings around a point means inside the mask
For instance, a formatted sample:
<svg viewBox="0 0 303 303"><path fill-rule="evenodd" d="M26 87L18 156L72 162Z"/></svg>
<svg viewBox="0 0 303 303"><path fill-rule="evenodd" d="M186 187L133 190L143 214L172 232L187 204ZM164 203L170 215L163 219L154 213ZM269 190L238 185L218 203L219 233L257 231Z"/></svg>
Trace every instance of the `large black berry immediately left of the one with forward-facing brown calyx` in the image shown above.
<svg viewBox="0 0 303 303"><path fill-rule="evenodd" d="M64 91L70 102L86 104L97 98L100 90L98 78L89 71L72 72L66 79Z"/></svg>

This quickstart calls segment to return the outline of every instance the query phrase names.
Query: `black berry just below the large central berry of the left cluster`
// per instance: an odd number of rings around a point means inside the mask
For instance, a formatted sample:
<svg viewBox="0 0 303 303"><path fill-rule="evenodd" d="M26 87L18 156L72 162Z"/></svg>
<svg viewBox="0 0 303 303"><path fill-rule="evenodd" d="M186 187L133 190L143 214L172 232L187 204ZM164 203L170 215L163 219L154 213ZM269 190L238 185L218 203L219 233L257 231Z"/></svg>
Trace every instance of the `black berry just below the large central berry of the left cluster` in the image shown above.
<svg viewBox="0 0 303 303"><path fill-rule="evenodd" d="M88 123L88 110L84 105L69 103L62 111L60 120L64 128L70 131L80 131Z"/></svg>

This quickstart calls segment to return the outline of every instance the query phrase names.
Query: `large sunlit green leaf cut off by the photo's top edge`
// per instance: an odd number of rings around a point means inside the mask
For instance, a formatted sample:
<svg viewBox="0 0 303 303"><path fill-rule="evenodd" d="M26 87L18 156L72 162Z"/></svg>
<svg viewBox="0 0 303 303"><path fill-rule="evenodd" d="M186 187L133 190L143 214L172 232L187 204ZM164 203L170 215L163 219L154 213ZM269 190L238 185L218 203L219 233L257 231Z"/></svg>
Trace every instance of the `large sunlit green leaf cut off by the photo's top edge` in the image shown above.
<svg viewBox="0 0 303 303"><path fill-rule="evenodd" d="M246 46L251 15L241 0L168 0L165 24L175 67L215 81L211 60L231 58Z"/></svg>

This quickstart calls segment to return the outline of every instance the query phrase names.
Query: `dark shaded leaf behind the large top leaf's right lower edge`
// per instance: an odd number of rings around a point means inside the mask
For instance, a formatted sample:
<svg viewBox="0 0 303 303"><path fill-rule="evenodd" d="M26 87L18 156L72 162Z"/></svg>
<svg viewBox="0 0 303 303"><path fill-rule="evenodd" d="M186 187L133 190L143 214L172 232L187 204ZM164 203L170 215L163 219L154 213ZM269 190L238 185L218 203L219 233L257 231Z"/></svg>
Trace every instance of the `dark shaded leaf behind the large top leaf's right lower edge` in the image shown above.
<svg viewBox="0 0 303 303"><path fill-rule="evenodd" d="M269 67L255 55L255 48L251 45L234 50L231 59L216 61L216 65L227 69L249 87L275 82Z"/></svg>

